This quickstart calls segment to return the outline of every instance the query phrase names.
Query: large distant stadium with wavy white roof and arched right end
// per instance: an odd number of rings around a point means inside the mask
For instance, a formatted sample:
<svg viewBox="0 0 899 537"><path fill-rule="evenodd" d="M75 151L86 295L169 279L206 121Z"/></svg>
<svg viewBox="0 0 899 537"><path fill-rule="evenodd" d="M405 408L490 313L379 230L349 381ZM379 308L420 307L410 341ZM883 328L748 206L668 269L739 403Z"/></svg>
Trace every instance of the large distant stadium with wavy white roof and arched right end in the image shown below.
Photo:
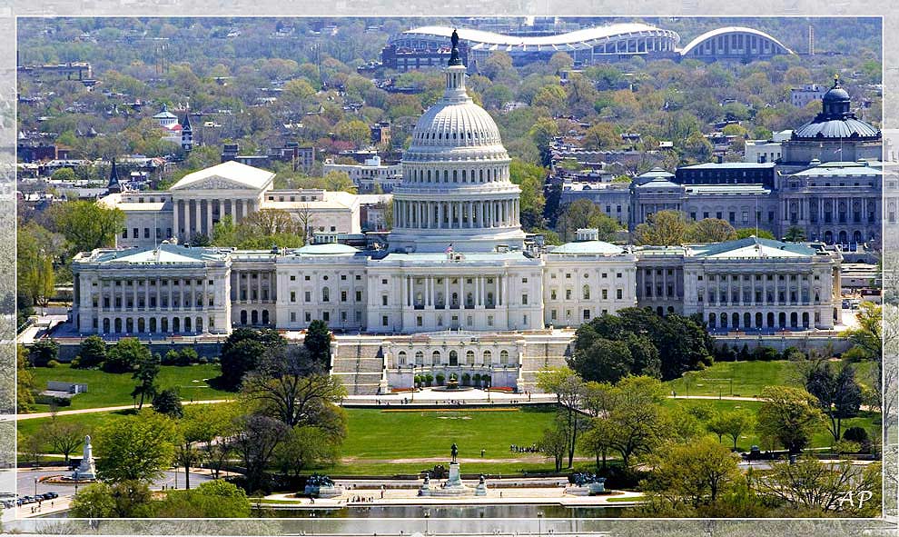
<svg viewBox="0 0 899 537"><path fill-rule="evenodd" d="M381 53L384 67L400 72L446 65L450 26L420 26L390 38ZM728 26L699 35L680 49L680 35L642 23L583 28L554 35L507 35L472 28L458 28L459 51L469 68L495 52L507 53L512 65L546 62L558 52L567 53L575 65L615 62L634 55L647 59L679 61L736 59L752 61L774 55L793 54L771 35L752 28Z"/></svg>

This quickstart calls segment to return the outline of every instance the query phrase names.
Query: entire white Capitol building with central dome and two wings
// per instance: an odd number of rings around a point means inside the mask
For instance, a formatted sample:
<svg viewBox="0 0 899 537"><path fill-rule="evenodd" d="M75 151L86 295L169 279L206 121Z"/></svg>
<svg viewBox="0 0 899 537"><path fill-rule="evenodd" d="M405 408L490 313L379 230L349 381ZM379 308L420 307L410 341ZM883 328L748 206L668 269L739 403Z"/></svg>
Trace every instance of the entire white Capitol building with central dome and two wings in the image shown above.
<svg viewBox="0 0 899 537"><path fill-rule="evenodd" d="M529 389L564 363L570 330L645 306L700 314L710 330L832 329L839 254L751 237L724 244L617 246L596 230L555 248L526 244L509 155L465 90L458 51L446 91L420 117L394 191L385 250L318 234L298 249L240 251L163 242L75 256L78 333L300 333L321 319L339 335L333 368L351 393L409 387L420 373L481 374ZM251 168L251 170L253 170ZM197 179L216 188L214 174Z"/></svg>

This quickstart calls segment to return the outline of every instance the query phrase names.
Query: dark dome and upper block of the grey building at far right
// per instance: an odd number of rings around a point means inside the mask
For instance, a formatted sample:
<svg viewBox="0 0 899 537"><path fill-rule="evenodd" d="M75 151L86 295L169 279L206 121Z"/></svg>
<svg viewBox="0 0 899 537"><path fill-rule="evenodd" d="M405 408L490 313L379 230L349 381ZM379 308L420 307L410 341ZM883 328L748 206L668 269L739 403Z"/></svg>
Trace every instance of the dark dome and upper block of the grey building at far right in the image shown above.
<svg viewBox="0 0 899 537"><path fill-rule="evenodd" d="M880 130L855 117L849 93L834 85L821 99L821 113L793 131L783 144L783 165L820 162L855 162L881 160L883 154Z"/></svg>

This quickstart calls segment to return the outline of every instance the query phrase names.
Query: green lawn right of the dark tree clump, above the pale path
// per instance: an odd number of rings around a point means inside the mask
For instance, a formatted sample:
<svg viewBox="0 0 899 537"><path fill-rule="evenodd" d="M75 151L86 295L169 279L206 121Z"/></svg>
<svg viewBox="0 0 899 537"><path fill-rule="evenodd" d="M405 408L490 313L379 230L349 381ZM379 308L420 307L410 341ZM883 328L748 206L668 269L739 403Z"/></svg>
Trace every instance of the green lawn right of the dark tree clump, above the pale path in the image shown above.
<svg viewBox="0 0 899 537"><path fill-rule="evenodd" d="M874 372L873 362L855 363L855 378L869 383ZM772 362L717 362L703 371L687 373L684 377L665 383L678 395L737 395L758 397L766 386L798 386L794 363L785 360Z"/></svg>

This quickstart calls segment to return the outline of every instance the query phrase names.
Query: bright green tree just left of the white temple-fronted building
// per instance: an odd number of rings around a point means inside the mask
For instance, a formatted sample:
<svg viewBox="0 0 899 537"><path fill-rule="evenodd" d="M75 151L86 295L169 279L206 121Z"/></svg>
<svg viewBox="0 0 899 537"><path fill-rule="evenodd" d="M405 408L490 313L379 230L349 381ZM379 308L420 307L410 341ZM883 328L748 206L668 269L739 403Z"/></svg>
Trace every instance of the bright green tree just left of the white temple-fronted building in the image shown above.
<svg viewBox="0 0 899 537"><path fill-rule="evenodd" d="M125 223L120 209L88 201L69 201L52 208L54 225L76 252L115 245L115 236Z"/></svg>

